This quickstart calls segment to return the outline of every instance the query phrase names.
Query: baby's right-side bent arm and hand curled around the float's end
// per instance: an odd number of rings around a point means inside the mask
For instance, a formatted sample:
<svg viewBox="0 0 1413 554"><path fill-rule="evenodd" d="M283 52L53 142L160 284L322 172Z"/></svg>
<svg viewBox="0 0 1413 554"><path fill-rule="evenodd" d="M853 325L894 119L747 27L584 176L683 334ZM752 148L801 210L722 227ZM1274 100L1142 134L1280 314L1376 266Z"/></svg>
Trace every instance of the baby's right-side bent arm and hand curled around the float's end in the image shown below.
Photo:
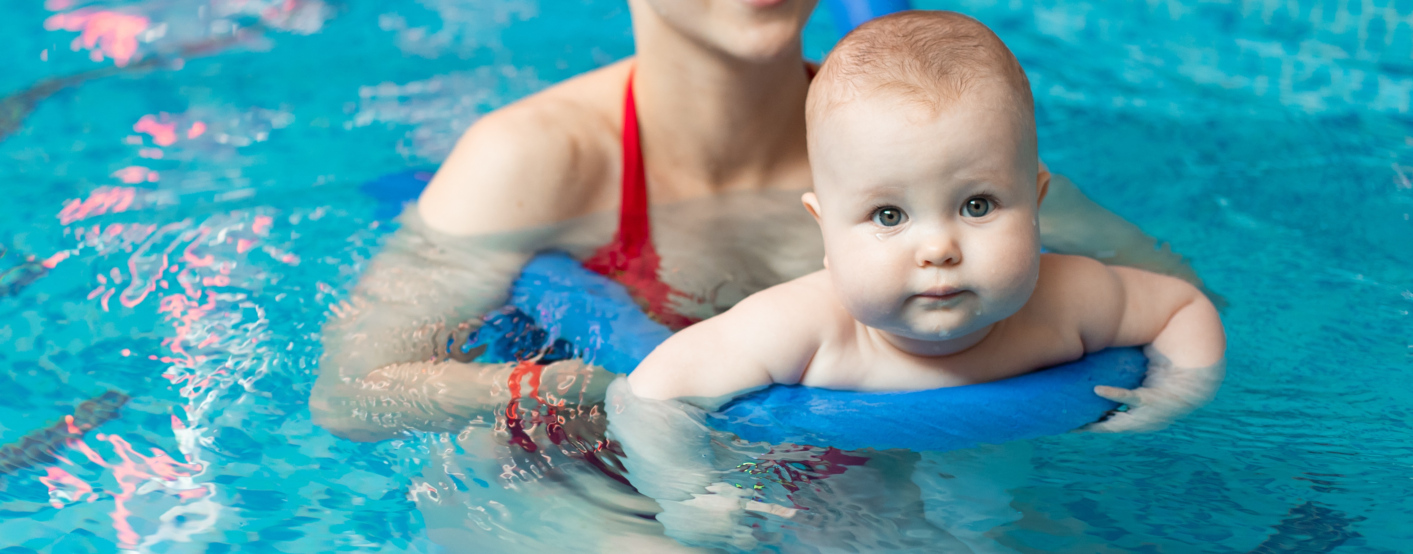
<svg viewBox="0 0 1413 554"><path fill-rule="evenodd" d="M1147 345L1149 372L1139 389L1095 387L1095 394L1129 410L1085 430L1156 431L1211 401L1226 376L1221 317L1183 280L1129 267L1105 270L1116 285L1119 304L1111 314L1118 319L1098 326L1112 329L1111 346Z"/></svg>

